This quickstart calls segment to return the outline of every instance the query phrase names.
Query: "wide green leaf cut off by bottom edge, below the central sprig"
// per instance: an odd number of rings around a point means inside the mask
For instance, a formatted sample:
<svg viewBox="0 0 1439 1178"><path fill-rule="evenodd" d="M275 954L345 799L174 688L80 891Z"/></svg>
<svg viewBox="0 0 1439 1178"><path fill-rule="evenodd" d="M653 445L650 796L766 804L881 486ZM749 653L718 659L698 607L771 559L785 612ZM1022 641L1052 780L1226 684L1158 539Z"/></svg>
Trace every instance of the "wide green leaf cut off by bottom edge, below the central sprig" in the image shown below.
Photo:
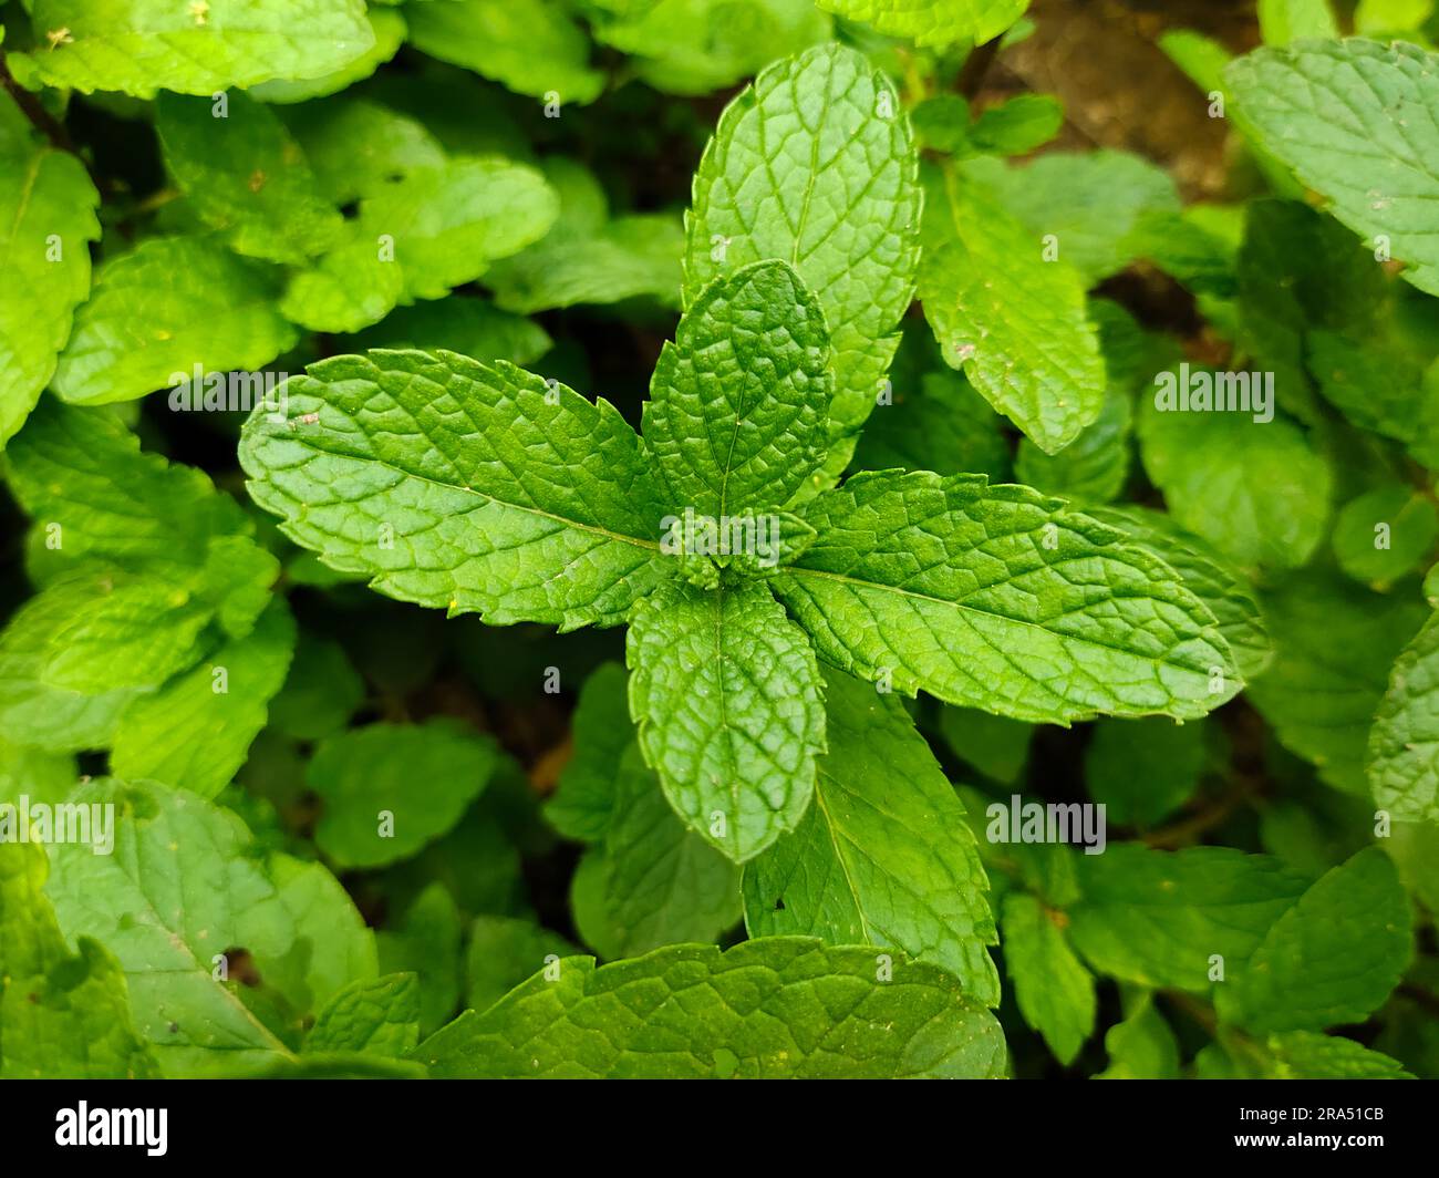
<svg viewBox="0 0 1439 1178"><path fill-rule="evenodd" d="M433 1076L1004 1074L999 1024L930 965L806 938L561 962L416 1048ZM876 981L885 969L892 981Z"/></svg>

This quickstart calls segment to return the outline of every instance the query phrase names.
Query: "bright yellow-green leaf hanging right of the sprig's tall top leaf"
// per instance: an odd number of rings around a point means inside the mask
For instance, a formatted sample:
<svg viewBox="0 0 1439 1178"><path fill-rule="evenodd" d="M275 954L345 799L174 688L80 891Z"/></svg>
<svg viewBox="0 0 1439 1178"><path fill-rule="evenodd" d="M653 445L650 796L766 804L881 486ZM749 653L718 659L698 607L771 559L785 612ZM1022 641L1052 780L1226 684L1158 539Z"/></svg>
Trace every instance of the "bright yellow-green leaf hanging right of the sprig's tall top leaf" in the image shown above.
<svg viewBox="0 0 1439 1178"><path fill-rule="evenodd" d="M1104 360L1084 282L1040 235L953 168L927 180L918 297L944 363L1045 454L1104 405Z"/></svg>

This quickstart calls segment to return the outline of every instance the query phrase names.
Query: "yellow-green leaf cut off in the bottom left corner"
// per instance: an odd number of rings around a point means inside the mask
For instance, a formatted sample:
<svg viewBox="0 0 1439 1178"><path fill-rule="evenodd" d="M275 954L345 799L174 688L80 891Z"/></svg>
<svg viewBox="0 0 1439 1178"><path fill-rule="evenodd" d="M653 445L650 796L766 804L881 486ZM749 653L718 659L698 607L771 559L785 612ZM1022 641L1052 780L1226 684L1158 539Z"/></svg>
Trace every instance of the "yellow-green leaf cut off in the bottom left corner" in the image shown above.
<svg viewBox="0 0 1439 1178"><path fill-rule="evenodd" d="M72 955L42 887L45 848L0 841L0 1077L153 1079L125 975L88 936Z"/></svg>

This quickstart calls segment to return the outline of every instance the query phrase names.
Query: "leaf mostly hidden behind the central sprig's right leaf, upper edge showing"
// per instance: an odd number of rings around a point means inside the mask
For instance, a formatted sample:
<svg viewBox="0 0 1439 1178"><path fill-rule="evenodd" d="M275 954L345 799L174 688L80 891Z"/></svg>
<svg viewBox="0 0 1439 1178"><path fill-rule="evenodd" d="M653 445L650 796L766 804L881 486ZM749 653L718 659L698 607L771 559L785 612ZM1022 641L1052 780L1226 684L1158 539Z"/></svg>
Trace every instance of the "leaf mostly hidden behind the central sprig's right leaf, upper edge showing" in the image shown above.
<svg viewBox="0 0 1439 1178"><path fill-rule="evenodd" d="M1088 514L1124 531L1131 544L1163 560L1184 579L1184 586L1219 619L1219 632L1246 680L1269 665L1274 648L1253 588L1203 540L1147 507L1097 507L1088 508Z"/></svg>

